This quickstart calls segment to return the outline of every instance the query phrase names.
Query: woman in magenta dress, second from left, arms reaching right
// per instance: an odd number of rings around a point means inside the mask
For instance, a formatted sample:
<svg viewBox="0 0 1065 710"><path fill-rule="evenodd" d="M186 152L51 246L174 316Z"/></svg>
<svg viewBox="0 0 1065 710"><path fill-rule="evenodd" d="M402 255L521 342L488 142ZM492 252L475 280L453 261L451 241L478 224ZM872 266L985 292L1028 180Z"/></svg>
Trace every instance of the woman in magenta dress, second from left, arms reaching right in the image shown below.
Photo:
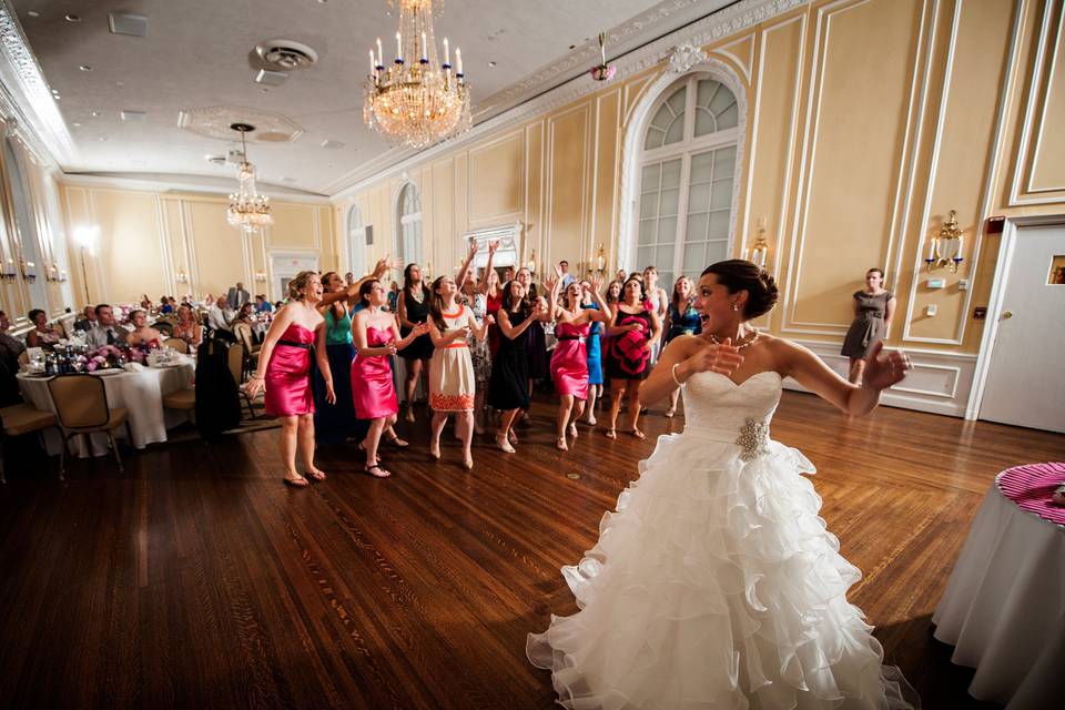
<svg viewBox="0 0 1065 710"><path fill-rule="evenodd" d="M400 339L395 316L383 307L388 303L388 293L376 278L359 287L358 300L366 307L352 318L352 342L356 352L352 362L352 398L355 416L369 420L369 430L359 444L359 448L366 452L366 473L385 478L392 474L381 467L377 445L382 432L395 424L399 412L396 387L392 382L392 356L428 333L429 326L415 324Z"/></svg>

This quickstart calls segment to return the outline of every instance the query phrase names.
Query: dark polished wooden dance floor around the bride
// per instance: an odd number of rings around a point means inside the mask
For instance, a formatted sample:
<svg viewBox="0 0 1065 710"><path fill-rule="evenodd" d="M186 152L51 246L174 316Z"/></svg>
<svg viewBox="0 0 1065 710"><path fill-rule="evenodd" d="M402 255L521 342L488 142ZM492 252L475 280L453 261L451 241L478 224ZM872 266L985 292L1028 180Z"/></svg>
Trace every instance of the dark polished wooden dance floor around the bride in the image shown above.
<svg viewBox="0 0 1065 710"><path fill-rule="evenodd" d="M453 440L429 459L419 416L400 426L410 449L383 449L392 478L323 449L329 478L310 490L282 485L276 432L123 449L124 474L78 462L65 484L54 460L29 474L9 458L0 707L551 707L526 633L576 610L559 567L683 418L645 417L647 442L581 428L562 454L542 400L517 455L486 436L466 473ZM846 422L797 393L773 437L818 466L888 662L925 708L985 707L931 615L993 476L1061 460L1065 437L891 408Z"/></svg>

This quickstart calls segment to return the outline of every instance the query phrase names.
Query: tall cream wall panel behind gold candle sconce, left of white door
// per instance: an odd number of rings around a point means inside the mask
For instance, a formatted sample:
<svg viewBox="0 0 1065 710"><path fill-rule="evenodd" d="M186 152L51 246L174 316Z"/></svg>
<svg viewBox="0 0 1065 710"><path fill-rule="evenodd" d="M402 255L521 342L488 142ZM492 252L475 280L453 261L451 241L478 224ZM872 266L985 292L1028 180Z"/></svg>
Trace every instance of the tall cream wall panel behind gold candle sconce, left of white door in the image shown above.
<svg viewBox="0 0 1065 710"><path fill-rule="evenodd" d="M958 223L967 240L965 262L956 276L945 276L950 287L929 290L929 274L921 273L911 283L906 298L907 317L903 337L907 341L961 344L972 291L960 291L957 280L975 273L983 217L990 200L986 175L992 170L995 122L1000 87L1003 80L1013 8L1008 2L958 0L944 30L949 30L943 89L937 116L936 140L929 170L931 189L920 224L920 248L912 263L920 273L921 257L927 252L926 237L934 234L951 210L957 210ZM980 146L980 148L976 148ZM936 306L935 317L923 315Z"/></svg>

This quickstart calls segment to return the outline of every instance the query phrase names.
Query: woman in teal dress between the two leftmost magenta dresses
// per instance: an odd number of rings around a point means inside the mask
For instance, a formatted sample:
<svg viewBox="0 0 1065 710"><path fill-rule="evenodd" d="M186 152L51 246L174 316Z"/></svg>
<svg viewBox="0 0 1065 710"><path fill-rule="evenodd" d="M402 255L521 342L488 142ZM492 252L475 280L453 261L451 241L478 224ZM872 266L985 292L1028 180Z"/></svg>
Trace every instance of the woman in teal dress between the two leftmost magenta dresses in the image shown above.
<svg viewBox="0 0 1065 710"><path fill-rule="evenodd" d="M339 274L329 272L322 277L326 293L339 293L347 285ZM366 435L367 423L355 418L352 400L352 315L347 300L341 298L325 306L325 348L333 373L333 390L336 403L325 400L325 381L314 374L314 434L318 444L344 444L349 438L361 439Z"/></svg>

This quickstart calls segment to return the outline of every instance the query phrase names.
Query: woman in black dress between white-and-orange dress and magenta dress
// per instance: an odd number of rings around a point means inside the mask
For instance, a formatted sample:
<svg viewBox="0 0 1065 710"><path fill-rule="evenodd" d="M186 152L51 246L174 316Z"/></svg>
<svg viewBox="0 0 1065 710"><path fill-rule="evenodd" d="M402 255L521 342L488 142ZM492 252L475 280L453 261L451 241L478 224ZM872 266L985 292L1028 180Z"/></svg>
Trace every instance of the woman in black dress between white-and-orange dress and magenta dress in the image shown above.
<svg viewBox="0 0 1065 710"><path fill-rule="evenodd" d="M496 314L503 337L491 357L488 404L501 413L496 445L508 454L515 452L511 444L518 440L511 428L514 419L529 408L529 332L540 327L546 317L550 317L550 310L542 302L530 301L520 281L504 286L503 305Z"/></svg>

